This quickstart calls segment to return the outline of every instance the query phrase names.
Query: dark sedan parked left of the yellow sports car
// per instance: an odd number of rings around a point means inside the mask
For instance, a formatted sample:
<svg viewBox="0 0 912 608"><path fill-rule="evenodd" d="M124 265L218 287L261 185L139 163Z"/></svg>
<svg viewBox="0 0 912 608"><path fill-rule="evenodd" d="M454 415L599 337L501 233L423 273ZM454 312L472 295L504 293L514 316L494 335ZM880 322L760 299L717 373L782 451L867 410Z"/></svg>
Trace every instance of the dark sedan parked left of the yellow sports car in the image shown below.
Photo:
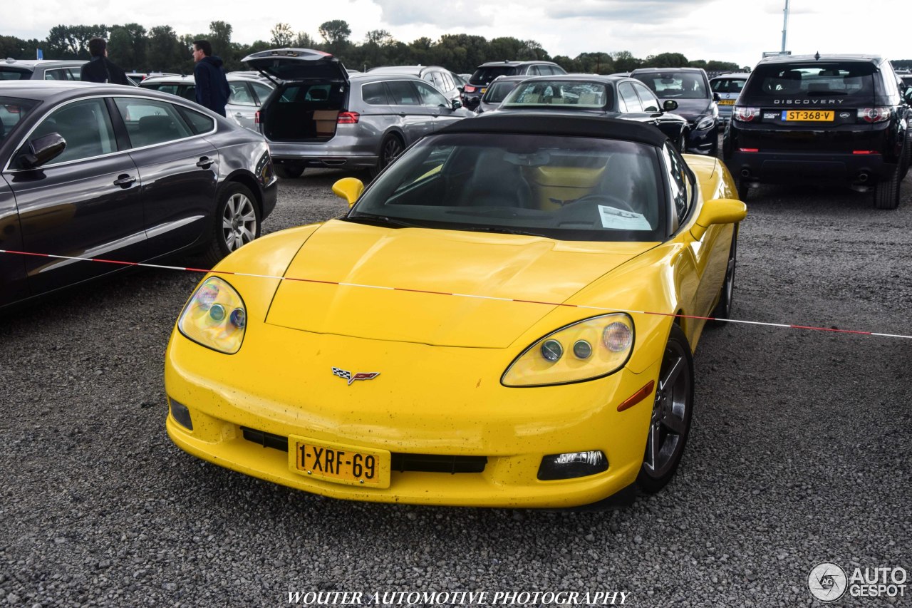
<svg viewBox="0 0 912 608"><path fill-rule="evenodd" d="M0 109L0 307L123 267L23 253L214 264L275 207L263 137L195 103L24 80L0 83Z"/></svg>

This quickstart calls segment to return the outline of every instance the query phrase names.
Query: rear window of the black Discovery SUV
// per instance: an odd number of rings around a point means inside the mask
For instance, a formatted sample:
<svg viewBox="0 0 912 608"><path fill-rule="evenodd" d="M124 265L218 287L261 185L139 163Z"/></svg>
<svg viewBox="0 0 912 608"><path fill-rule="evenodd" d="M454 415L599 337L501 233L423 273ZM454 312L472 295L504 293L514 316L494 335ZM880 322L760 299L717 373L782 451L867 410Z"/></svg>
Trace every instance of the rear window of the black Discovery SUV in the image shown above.
<svg viewBox="0 0 912 608"><path fill-rule="evenodd" d="M745 94L751 97L873 97L876 66L868 62L757 66Z"/></svg>

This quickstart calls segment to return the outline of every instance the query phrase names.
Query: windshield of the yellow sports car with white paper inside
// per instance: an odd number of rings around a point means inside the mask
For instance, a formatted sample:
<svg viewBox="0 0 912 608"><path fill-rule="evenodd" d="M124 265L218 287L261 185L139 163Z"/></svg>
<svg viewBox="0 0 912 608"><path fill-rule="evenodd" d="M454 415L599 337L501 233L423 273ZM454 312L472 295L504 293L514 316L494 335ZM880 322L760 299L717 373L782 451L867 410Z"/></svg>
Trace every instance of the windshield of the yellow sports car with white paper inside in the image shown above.
<svg viewBox="0 0 912 608"><path fill-rule="evenodd" d="M573 241L664 239L668 203L647 144L546 134L450 133L405 152L349 222Z"/></svg>

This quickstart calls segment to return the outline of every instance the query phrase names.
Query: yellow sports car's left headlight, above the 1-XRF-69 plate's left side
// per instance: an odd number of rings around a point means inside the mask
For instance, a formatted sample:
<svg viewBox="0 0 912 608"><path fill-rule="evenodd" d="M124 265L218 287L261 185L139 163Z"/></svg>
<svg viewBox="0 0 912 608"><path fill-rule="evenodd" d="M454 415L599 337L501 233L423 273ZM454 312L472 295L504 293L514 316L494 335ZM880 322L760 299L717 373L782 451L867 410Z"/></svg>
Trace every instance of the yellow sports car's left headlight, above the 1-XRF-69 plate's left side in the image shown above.
<svg viewBox="0 0 912 608"><path fill-rule="evenodd" d="M241 349L246 326L244 300L218 277L207 278L196 288L177 322L177 328L188 339L227 354Z"/></svg>

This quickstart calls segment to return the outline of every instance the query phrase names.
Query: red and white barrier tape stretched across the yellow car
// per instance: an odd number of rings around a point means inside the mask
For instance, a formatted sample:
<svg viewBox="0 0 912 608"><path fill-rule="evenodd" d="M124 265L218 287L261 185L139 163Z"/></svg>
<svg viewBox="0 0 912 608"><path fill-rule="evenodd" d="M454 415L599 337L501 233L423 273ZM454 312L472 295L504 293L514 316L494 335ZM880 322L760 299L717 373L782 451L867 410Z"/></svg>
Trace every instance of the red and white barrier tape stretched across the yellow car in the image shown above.
<svg viewBox="0 0 912 608"><path fill-rule="evenodd" d="M102 259L99 257L72 257L72 256L56 256L54 254L39 254L32 253L28 251L12 251L8 249L0 249L0 254L13 254L17 256L33 256L33 257L53 257L56 259L70 259L77 260L82 262L102 262L104 264L117 264L119 266L135 266L143 268L160 268L162 270L181 270L184 272L204 272L212 273L214 275L233 275L236 277L254 277L254 278L275 278L278 280L284 281L298 281L301 283L319 283L322 285L337 285L340 287L353 287L353 288L367 288L367 289L387 289L389 291L407 291L410 293L426 293L435 296L455 296L457 298L473 298L473 299L492 299L502 302L518 302L521 304L543 304L544 306L562 306L565 308L572 309L586 309L586 310L599 310L603 312L629 312L641 315L656 315L659 317L679 317L681 319L701 319L701 320L717 320L725 323L741 323L742 325L760 325L762 327L777 327L787 330L813 330L813 331L829 331L831 333L853 333L862 336L878 336L881 338L902 338L906 340L912 340L912 336L905 336L897 333L877 333L876 331L861 331L861 330L839 330L834 327L814 327L813 325L794 325L790 323L769 323L765 321L751 321L751 320L740 320L740 319L716 319L715 317L699 317L696 315L677 315L671 312L653 312L649 310L632 310L632 309L609 309L601 306L586 306L583 304L567 304L565 302L545 302L535 299L515 299L515 298L497 298L495 296L478 296L468 293L451 293L449 291L429 291L428 289L410 289L410 288L395 288L395 287L385 287L380 285L362 285L360 283L344 283L340 281L324 281L316 278L296 278L296 277L277 277L273 275L257 275L249 272L233 272L231 270L212 270L207 268L193 268L193 267L182 267L182 266L164 266L161 264L145 264L141 262L123 262L113 259Z"/></svg>

